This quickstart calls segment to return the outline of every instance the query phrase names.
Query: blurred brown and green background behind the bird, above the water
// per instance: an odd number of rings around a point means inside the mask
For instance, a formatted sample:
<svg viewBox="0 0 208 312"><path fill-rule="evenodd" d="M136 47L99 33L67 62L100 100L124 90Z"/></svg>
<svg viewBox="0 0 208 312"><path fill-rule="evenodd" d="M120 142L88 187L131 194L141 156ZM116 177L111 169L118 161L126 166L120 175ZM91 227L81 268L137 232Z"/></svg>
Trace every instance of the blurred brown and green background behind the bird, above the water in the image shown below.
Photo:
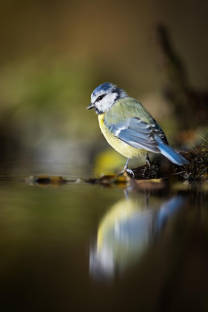
<svg viewBox="0 0 208 312"><path fill-rule="evenodd" d="M141 101L179 151L199 144L208 120L207 12L205 0L1 1L1 173L121 169L124 157L86 111L106 81Z"/></svg>

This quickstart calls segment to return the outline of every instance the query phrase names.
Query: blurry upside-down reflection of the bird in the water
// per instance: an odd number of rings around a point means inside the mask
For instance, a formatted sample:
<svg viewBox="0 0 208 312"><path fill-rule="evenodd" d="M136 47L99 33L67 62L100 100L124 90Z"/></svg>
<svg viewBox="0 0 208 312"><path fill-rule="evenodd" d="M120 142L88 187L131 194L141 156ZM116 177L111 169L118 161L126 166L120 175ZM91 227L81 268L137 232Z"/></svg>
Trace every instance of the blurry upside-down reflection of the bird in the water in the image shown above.
<svg viewBox="0 0 208 312"><path fill-rule="evenodd" d="M145 198L118 201L100 222L96 244L90 248L90 273L112 278L137 262L183 203L177 196L146 209Z"/></svg>

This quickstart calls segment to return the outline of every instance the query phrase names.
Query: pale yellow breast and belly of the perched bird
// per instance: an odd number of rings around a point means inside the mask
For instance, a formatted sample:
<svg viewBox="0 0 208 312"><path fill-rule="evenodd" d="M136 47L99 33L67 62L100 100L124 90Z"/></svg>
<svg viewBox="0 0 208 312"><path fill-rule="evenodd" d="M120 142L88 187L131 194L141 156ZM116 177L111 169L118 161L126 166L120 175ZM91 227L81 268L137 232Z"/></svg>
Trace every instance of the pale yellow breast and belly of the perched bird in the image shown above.
<svg viewBox="0 0 208 312"><path fill-rule="evenodd" d="M114 148L118 153L127 157L127 158L134 158L139 157L141 155L146 154L147 152L142 149L136 149L132 146L128 145L127 143L121 141L120 139L116 138L109 129L105 126L104 123L105 113L102 115L98 115L99 126L102 134L104 135L105 139L107 140L108 144Z"/></svg>

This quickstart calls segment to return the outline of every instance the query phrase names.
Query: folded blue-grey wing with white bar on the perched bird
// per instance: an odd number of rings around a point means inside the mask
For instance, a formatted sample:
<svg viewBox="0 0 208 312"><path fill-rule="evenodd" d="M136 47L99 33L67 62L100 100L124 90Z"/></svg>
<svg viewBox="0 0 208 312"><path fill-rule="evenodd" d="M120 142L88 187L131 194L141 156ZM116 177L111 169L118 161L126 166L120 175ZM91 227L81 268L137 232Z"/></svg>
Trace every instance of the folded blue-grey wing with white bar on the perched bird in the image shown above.
<svg viewBox="0 0 208 312"><path fill-rule="evenodd" d="M147 124L139 118L129 118L125 122L106 126L123 142L136 149L144 149L149 152L161 153L158 147L157 137L163 144L168 145L168 141L163 130L153 119L153 124Z"/></svg>

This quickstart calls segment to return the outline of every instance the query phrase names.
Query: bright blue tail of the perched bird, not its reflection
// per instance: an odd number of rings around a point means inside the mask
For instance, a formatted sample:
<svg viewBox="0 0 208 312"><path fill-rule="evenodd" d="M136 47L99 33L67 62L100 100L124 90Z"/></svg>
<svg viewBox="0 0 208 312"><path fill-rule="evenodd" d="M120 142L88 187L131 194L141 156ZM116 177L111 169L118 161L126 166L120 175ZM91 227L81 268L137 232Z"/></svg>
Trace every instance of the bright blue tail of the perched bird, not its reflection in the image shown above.
<svg viewBox="0 0 208 312"><path fill-rule="evenodd" d="M159 143L158 148L162 155L166 156L171 162L176 163L180 166L188 164L189 161L172 149L169 145L162 142Z"/></svg>

